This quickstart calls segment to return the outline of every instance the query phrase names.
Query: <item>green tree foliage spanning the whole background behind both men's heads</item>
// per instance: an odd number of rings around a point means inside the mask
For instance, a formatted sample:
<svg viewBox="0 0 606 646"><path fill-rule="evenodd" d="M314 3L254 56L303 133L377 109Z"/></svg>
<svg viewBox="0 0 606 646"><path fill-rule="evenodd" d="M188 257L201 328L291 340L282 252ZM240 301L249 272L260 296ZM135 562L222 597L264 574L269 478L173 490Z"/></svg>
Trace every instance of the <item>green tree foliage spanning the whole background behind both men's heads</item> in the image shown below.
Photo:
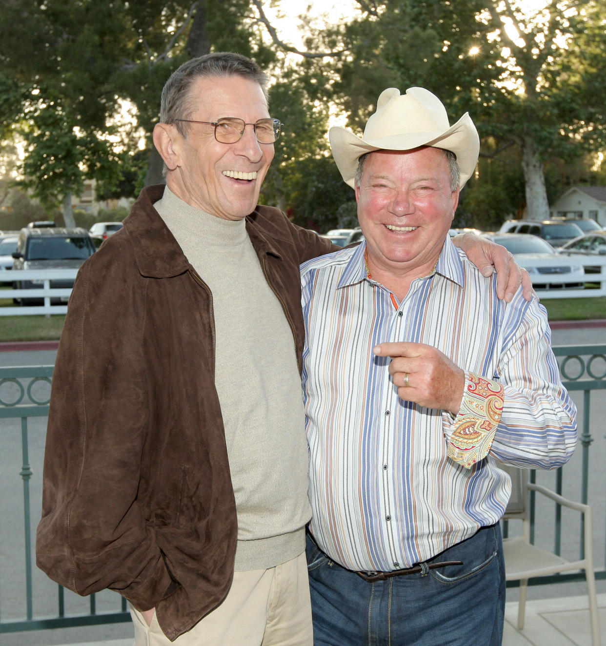
<svg viewBox="0 0 606 646"><path fill-rule="evenodd" d="M143 183L169 74L189 57L233 50L276 78L271 110L285 128L263 199L303 224L323 229L351 222L351 189L326 157L329 106L338 105L349 125L362 129L386 87L432 90L451 121L470 111L486 158L462 196L465 224L521 213L527 141L551 162L548 194L561 191L568 178L595 181L575 167L606 145L603 3L554 0L535 14L519 11L522 0L359 5L362 16L349 24L306 26L309 50L341 54L293 63L281 47L266 45L250 0L3 3L0 136L23 133L27 184L49 205L77 194L91 177L103 198L132 196ZM508 19L523 44L506 34ZM141 130L122 127L121 140L109 143L119 99L135 106ZM147 150L133 154L142 135Z"/></svg>

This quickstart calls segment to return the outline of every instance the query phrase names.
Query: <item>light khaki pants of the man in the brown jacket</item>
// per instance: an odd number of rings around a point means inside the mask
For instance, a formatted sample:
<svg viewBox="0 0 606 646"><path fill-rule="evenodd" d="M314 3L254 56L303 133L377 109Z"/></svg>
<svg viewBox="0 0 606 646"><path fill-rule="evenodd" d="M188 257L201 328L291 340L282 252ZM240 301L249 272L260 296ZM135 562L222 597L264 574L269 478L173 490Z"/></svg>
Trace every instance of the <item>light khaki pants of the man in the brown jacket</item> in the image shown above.
<svg viewBox="0 0 606 646"><path fill-rule="evenodd" d="M131 615L133 646L311 646L305 552L269 570L234 572L223 603L173 642L155 614L149 626L132 607Z"/></svg>

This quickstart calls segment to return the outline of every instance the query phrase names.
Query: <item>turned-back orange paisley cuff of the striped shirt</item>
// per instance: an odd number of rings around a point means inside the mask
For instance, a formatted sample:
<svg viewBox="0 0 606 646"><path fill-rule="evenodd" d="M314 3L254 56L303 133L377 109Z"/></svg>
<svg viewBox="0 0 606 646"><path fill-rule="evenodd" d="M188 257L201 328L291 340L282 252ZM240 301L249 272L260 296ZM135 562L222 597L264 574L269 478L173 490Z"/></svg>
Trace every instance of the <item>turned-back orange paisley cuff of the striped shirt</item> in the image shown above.
<svg viewBox="0 0 606 646"><path fill-rule="evenodd" d="M450 459L469 469L488 455L501 421L503 397L499 382L465 373L459 414L446 438Z"/></svg>

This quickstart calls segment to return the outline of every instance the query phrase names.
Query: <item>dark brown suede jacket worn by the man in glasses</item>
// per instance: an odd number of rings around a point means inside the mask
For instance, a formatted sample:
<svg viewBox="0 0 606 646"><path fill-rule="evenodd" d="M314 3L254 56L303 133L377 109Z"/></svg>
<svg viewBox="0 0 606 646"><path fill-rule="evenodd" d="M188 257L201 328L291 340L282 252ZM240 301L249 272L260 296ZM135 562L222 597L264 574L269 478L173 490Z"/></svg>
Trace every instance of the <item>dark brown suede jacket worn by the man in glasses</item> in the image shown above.
<svg viewBox="0 0 606 646"><path fill-rule="evenodd" d="M213 300L144 189L81 267L52 382L38 567L156 607L174 641L226 596L237 518L214 384ZM328 240L259 206L246 229L292 329L299 264ZM262 331L260 331L262 333Z"/></svg>

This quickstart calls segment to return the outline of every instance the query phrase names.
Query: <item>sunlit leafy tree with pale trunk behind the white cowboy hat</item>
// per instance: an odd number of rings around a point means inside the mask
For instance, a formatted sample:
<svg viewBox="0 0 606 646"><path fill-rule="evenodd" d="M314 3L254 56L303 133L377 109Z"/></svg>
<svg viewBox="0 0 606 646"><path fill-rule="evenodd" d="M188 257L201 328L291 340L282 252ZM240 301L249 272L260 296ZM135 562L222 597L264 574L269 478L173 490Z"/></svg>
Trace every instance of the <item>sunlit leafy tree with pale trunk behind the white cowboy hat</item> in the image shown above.
<svg viewBox="0 0 606 646"><path fill-rule="evenodd" d="M545 161L571 161L606 143L605 9L546 0L528 13L525 4L358 0L364 15L341 32L351 53L337 66L335 90L353 127L389 86L421 85L450 114L469 110L481 154L497 156L512 145L521 151L527 213L544 218Z"/></svg>

